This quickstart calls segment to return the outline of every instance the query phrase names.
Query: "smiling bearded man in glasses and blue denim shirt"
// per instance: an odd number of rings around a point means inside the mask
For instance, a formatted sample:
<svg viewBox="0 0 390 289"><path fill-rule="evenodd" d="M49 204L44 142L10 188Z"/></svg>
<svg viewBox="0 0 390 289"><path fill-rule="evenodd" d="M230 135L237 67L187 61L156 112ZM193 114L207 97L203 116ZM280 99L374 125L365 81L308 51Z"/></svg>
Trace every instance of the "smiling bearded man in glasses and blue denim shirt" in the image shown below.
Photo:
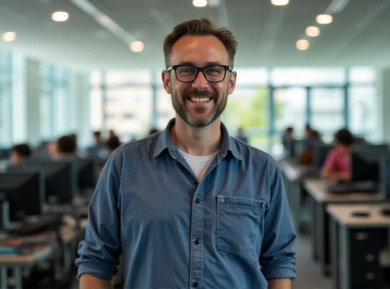
<svg viewBox="0 0 390 289"><path fill-rule="evenodd" d="M206 19L165 38L176 119L105 165L79 245L80 288L110 288L122 254L126 289L291 289L295 234L279 168L221 124L236 46Z"/></svg>

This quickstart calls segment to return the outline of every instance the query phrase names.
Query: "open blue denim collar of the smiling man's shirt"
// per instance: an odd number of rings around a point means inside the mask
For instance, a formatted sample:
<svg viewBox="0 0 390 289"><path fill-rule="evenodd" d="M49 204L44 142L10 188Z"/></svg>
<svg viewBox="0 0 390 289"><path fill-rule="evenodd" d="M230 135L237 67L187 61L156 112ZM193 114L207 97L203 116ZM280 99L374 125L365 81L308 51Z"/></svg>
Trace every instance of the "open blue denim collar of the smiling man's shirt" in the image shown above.
<svg viewBox="0 0 390 289"><path fill-rule="evenodd" d="M156 149L154 153L154 157L156 158L161 152L168 148L171 156L176 160L177 155L179 154L178 149L174 145L171 137L171 128L175 125L175 119L169 121L168 125L165 129L160 133L157 139ZM233 156L242 160L240 153L238 152L237 145L234 142L234 139L229 136L228 130L224 124L221 123L221 131L222 131L222 145L218 150L217 156L219 160L222 160L228 151L230 151Z"/></svg>

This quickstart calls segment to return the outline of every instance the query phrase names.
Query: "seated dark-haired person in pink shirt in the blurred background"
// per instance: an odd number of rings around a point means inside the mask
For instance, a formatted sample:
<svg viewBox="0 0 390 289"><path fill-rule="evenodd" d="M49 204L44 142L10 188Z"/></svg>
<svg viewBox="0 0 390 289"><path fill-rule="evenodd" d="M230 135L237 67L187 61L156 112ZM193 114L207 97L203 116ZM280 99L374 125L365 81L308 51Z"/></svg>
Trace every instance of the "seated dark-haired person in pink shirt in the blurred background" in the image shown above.
<svg viewBox="0 0 390 289"><path fill-rule="evenodd" d="M321 177L331 180L349 180L351 171L350 151L353 145L351 132L344 128L335 134L336 147L327 155Z"/></svg>

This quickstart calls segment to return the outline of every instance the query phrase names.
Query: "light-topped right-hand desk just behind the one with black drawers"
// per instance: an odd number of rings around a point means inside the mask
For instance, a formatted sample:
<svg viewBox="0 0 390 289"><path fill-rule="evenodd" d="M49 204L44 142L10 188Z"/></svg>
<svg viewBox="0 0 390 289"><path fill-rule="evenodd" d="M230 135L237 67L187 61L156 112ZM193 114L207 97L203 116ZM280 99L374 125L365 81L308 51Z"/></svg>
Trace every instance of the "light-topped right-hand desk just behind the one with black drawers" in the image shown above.
<svg viewBox="0 0 390 289"><path fill-rule="evenodd" d="M330 194L326 192L327 181L306 180L304 187L309 194L312 220L312 257L321 266L324 275L331 273L329 249L329 217L326 206L329 204L378 204L384 202L379 193Z"/></svg>

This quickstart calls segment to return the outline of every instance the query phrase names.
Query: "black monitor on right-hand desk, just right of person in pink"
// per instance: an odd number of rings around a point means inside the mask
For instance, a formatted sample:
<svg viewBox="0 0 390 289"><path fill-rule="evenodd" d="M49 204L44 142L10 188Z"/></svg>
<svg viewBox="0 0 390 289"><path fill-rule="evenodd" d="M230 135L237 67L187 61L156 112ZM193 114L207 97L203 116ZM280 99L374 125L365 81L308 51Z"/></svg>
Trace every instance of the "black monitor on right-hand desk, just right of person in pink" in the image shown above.
<svg viewBox="0 0 390 289"><path fill-rule="evenodd" d="M379 164L384 158L390 158L388 150L351 151L351 181L379 182Z"/></svg>

